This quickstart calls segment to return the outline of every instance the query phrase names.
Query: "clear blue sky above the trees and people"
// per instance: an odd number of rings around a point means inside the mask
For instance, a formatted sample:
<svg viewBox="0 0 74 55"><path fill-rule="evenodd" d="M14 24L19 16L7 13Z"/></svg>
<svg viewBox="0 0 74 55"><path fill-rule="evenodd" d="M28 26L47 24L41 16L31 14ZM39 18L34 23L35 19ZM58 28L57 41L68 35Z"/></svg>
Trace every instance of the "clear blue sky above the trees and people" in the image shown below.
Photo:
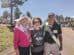
<svg viewBox="0 0 74 55"><path fill-rule="evenodd" d="M23 14L29 11L32 16L46 19L49 12L64 16L74 16L73 5L74 0L28 0L19 8ZM1 8L0 6L0 15L4 10L10 11L10 9Z"/></svg>

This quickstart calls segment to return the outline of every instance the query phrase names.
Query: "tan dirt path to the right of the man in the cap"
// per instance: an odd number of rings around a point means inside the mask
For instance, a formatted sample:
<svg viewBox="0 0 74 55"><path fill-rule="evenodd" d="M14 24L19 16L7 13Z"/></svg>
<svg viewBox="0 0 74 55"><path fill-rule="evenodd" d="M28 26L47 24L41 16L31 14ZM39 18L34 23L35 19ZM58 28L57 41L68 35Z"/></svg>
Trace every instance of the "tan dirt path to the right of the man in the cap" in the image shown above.
<svg viewBox="0 0 74 55"><path fill-rule="evenodd" d="M63 28L63 55L74 55L74 31Z"/></svg>

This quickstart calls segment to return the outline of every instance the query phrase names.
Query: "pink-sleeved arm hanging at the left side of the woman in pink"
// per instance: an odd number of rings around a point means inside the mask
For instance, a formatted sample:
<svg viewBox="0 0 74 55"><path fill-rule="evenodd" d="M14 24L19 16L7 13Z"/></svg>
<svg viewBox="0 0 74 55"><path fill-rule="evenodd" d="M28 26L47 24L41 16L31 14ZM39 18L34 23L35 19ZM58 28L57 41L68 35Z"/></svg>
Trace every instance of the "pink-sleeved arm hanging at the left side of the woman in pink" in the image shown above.
<svg viewBox="0 0 74 55"><path fill-rule="evenodd" d="M19 41L19 32L17 29L14 29L14 38L13 38L13 45L14 45L14 49L16 52L16 55L19 55L19 50L18 50L18 41Z"/></svg>

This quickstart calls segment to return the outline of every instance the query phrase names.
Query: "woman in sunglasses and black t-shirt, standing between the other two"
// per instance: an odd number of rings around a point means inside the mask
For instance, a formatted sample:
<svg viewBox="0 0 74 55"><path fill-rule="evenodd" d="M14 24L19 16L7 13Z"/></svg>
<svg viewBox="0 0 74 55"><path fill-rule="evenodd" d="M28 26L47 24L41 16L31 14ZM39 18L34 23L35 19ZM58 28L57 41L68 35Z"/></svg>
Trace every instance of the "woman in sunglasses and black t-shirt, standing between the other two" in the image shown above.
<svg viewBox="0 0 74 55"><path fill-rule="evenodd" d="M32 55L43 55L44 41L42 33L42 21L39 17L33 19L33 30L32 30L32 42L31 42L31 53Z"/></svg>

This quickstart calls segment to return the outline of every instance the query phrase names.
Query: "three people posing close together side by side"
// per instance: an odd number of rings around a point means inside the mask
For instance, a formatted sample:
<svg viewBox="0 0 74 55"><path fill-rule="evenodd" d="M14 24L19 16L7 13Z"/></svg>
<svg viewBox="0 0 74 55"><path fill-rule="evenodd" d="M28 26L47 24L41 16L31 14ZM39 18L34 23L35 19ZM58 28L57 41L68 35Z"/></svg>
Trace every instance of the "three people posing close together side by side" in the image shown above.
<svg viewBox="0 0 74 55"><path fill-rule="evenodd" d="M46 23L38 16L15 20L13 45L16 55L61 55L62 30L55 14L48 13Z"/></svg>

